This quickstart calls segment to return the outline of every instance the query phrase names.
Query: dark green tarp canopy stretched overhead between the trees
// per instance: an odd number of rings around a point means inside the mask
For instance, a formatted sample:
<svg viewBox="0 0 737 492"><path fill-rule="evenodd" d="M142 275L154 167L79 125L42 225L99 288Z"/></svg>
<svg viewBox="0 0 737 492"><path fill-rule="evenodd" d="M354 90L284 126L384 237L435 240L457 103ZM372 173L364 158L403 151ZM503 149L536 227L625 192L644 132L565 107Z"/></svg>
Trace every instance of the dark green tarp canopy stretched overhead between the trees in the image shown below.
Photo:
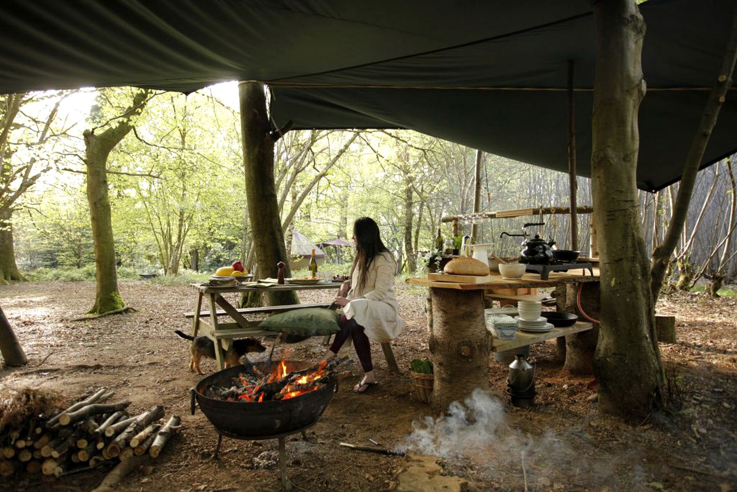
<svg viewBox="0 0 737 492"><path fill-rule="evenodd" d="M638 187L680 179L737 0L650 0ZM0 92L224 80L273 91L276 125L410 128L567 170L567 62L589 176L595 37L588 0L4 0ZM702 167L737 150L737 93Z"/></svg>

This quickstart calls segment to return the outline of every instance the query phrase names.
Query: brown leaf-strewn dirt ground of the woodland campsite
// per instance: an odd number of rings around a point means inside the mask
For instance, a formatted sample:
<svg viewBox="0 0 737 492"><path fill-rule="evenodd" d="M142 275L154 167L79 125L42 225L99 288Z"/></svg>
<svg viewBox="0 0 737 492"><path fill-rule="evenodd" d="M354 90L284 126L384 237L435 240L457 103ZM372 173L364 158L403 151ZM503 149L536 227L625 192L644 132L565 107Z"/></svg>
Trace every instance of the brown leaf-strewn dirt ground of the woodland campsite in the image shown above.
<svg viewBox="0 0 737 492"><path fill-rule="evenodd" d="M181 434L153 466L130 475L119 490L282 490L276 440L226 438L220 460L214 461L217 434L200 410L189 413L189 388L201 376L189 372L189 342L172 330L191 331L183 313L194 309L195 291L147 281L120 287L135 313L74 322L92 304L93 283L0 286L0 305L30 359L27 367L0 370L2 389L51 388L77 398L110 387L116 389L114 401L133 402L131 413L163 403L167 416L181 415ZM394 488L405 458L338 446L371 446L368 439L373 439L385 448L433 448L447 473L466 479L472 491L737 491L736 299L678 294L659 305L658 311L677 316L677 344L660 346L666 374L675 382L666 415L652 415L637 425L601 415L590 398L593 378L562 373L556 344L544 342L531 347L537 362L533 409L509 405L507 367L490 361L491 396L477 395L467 403L477 410L476 418L466 421L455 412L455 420L439 423L428 420L429 407L414 398L408 370L412 358L429 356L424 292L398 285L398 294L408 322L393 343L402 373L388 372L376 344L380 385L367 395L352 393L360 377L357 367L356 377L343 381L308 431L310 440L287 440L288 474L298 490ZM330 295L313 291L301 299L324 302ZM354 355L352 348L344 351ZM324 347L314 338L285 345L282 353L318 361ZM214 367L214 361L203 361L206 373ZM88 491L105 473L14 477L0 482L0 489Z"/></svg>

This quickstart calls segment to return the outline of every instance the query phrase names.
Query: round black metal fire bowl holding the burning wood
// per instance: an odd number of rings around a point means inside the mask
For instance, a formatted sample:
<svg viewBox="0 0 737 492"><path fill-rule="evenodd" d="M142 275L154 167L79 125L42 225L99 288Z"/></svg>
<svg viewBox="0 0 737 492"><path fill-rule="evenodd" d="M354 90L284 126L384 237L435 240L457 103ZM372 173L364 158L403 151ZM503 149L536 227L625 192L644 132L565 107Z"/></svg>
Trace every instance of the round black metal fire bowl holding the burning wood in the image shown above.
<svg viewBox="0 0 737 492"><path fill-rule="evenodd" d="M269 367L266 362L257 363L261 370L270 370L281 364L273 361ZM287 372L307 369L310 362L285 361ZM207 420L222 434L240 439L273 439L280 435L292 434L317 422L332 398L336 381L331 381L320 389L295 398L281 401L224 401L209 398L200 391L211 384L230 386L231 378L242 373L242 366L230 367L207 376L196 387L190 389L192 415L195 415L195 399Z"/></svg>

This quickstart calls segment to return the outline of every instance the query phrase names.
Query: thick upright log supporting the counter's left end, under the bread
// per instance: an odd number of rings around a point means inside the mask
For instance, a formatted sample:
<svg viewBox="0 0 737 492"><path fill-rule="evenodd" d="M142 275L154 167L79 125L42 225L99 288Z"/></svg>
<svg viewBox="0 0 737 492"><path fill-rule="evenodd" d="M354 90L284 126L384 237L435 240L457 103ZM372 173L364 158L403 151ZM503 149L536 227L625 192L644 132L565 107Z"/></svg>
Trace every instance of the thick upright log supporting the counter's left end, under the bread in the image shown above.
<svg viewBox="0 0 737 492"><path fill-rule="evenodd" d="M439 414L451 401L464 401L475 388L489 389L491 340L483 319L483 291L431 287L430 299L435 373L430 406Z"/></svg>

